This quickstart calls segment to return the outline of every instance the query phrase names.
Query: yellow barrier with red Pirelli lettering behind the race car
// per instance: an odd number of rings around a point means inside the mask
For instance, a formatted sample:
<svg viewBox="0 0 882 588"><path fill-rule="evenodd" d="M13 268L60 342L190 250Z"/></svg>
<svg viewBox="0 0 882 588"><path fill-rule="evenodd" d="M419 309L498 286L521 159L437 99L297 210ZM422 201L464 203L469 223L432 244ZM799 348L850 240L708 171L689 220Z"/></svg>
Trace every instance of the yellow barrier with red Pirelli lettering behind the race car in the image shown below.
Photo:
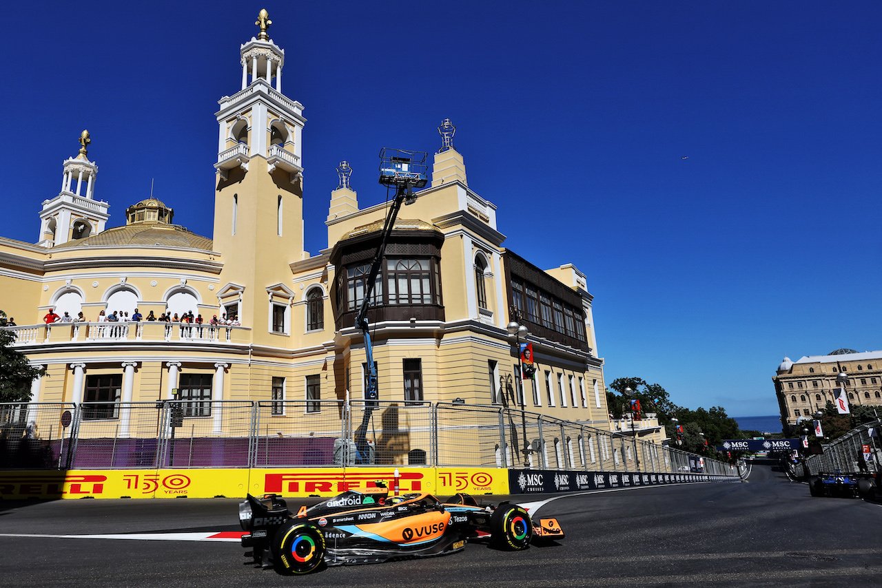
<svg viewBox="0 0 882 588"><path fill-rule="evenodd" d="M69 470L0 472L0 500L58 498L241 498L250 493L334 496L374 486L454 495L509 494L505 469L475 467L273 468L216 470Z"/></svg>

